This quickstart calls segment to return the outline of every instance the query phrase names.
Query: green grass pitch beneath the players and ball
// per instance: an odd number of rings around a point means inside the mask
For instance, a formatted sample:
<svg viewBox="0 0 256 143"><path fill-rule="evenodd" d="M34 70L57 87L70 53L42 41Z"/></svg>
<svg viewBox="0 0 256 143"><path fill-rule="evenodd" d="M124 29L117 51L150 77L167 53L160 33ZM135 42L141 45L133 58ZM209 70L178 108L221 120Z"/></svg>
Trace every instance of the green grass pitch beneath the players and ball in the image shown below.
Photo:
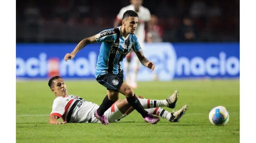
<svg viewBox="0 0 256 143"><path fill-rule="evenodd" d="M157 124L144 122L137 111L111 125L99 123L48 124L54 94L48 81L16 82L17 143L237 143L240 135L239 80L177 80L139 82L136 95L147 99L166 99L179 90L175 109L188 105L178 123L161 118ZM101 104L106 88L97 81L66 81L69 94ZM120 99L125 98L120 95ZM230 112L226 126L213 126L208 114L214 106ZM169 108L164 108L171 112ZM61 120L61 119L58 119Z"/></svg>

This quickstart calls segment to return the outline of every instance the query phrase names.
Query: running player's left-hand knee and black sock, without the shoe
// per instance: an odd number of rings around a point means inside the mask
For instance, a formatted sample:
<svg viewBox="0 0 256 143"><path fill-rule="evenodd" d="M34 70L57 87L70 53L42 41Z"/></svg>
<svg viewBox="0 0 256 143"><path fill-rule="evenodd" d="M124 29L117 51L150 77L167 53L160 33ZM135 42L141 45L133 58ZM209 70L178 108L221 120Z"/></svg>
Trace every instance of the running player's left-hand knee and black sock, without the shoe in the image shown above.
<svg viewBox="0 0 256 143"><path fill-rule="evenodd" d="M107 90L107 93L108 95L103 99L100 107L97 109L99 116L102 116L119 98L119 93L116 91Z"/></svg>

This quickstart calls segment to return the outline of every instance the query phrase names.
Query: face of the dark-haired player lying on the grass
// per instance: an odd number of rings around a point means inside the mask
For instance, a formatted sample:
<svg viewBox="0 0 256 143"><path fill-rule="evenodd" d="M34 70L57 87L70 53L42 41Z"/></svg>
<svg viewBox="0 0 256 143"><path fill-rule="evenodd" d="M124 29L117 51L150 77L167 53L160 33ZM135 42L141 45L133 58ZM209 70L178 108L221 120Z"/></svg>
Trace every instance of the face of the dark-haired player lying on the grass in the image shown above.
<svg viewBox="0 0 256 143"><path fill-rule="evenodd" d="M54 92L55 95L67 96L67 88L66 88L65 81L62 78L55 79L52 91Z"/></svg>

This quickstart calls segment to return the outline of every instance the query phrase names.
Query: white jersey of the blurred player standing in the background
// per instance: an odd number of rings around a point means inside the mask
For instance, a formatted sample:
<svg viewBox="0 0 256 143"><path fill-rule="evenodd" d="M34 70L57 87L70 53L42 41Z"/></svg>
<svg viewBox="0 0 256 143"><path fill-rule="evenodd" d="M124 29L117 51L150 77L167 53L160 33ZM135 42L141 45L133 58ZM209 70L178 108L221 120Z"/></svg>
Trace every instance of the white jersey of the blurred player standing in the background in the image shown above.
<svg viewBox="0 0 256 143"><path fill-rule="evenodd" d="M117 15L117 19L122 20L123 15L127 10L135 11L134 5L130 4L127 7L122 8ZM143 7L142 5L139 7L139 11L137 13L139 16L138 17L139 22L138 22L138 25L137 25L137 28L135 31L135 35L138 37L138 40L140 43L142 43L142 42L144 43L144 41L145 41L145 22L148 22L151 19L151 14L150 14L150 11L147 8Z"/></svg>

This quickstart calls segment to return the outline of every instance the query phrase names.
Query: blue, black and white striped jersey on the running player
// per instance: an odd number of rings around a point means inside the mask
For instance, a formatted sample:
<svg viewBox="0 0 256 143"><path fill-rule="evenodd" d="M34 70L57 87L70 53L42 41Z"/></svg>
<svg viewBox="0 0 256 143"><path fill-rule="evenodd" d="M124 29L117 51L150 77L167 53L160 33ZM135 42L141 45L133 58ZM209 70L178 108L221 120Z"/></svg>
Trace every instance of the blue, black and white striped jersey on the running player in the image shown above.
<svg viewBox="0 0 256 143"><path fill-rule="evenodd" d="M122 61L130 52L131 48L141 51L137 36L129 34L124 37L121 26L108 29L95 35L98 43L102 43L95 70L95 77L99 74L118 74L122 70Z"/></svg>

